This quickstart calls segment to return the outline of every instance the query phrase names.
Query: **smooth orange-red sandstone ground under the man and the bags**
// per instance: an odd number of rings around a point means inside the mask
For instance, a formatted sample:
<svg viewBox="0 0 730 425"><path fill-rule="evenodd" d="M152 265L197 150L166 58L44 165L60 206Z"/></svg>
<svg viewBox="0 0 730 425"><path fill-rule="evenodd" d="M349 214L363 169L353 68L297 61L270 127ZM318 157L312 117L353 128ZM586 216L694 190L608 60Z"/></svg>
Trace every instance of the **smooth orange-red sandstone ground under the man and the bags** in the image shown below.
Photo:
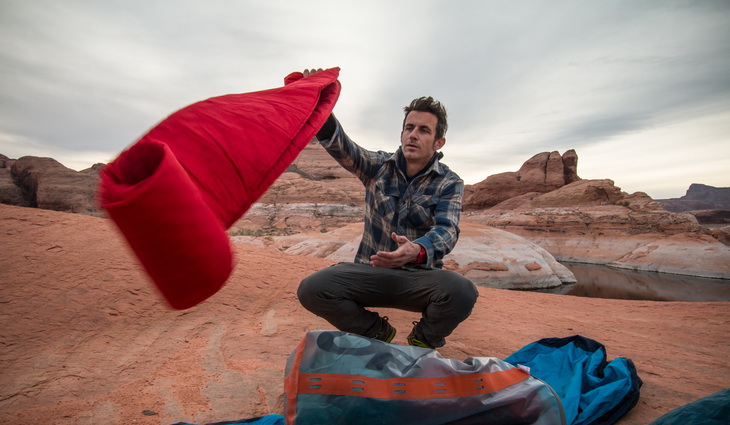
<svg viewBox="0 0 730 425"><path fill-rule="evenodd" d="M329 263L236 245L226 287L169 309L105 219L0 205L0 423L206 423L282 412L286 358L331 329L295 291ZM405 343L414 313L384 311ZM504 358L580 334L632 359L647 424L730 387L730 303L589 299L481 288L439 351Z"/></svg>

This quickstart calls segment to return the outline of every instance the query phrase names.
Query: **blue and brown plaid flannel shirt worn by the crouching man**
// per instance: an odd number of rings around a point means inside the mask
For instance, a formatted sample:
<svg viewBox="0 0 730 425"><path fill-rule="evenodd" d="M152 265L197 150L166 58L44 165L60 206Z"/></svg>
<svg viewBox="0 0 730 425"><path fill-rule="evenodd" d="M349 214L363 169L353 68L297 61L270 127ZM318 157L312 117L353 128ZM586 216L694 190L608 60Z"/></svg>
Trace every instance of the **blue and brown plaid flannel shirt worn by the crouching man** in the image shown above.
<svg viewBox="0 0 730 425"><path fill-rule="evenodd" d="M459 238L464 194L464 182L439 162L443 154L437 152L409 182L400 148L395 153L364 149L347 137L339 122L332 137L320 144L365 185L365 228L355 262L369 264L377 251L396 250L398 244L390 237L395 232L427 252L425 263L402 268L441 268Z"/></svg>

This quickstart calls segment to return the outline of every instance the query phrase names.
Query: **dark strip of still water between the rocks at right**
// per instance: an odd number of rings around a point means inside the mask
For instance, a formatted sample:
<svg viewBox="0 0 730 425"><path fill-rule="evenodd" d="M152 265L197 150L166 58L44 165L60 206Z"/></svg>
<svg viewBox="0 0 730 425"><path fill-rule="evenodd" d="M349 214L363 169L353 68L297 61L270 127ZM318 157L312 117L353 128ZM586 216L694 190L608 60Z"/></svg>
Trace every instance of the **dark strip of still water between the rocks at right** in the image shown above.
<svg viewBox="0 0 730 425"><path fill-rule="evenodd" d="M562 264L573 272L578 283L540 292L624 300L730 301L730 280Z"/></svg>

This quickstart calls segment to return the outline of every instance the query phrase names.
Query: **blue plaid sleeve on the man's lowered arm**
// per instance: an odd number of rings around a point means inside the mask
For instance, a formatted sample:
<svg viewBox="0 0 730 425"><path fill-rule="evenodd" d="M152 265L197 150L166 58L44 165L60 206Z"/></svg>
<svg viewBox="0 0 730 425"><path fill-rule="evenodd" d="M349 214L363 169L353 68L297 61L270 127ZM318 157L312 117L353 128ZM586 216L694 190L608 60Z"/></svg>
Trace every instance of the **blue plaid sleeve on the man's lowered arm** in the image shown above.
<svg viewBox="0 0 730 425"><path fill-rule="evenodd" d="M459 239L461 202L464 196L464 182L454 179L445 186L434 212L434 224L425 235L413 242L426 248L427 261L423 266L433 268L454 249Z"/></svg>

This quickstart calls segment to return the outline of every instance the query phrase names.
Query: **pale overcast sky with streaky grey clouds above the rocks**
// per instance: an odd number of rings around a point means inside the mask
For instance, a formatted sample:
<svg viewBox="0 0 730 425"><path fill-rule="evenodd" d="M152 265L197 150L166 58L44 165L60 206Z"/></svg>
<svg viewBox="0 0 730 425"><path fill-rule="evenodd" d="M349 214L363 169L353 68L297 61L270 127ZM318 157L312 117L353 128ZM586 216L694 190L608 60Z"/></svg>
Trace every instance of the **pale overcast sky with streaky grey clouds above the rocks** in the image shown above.
<svg viewBox="0 0 730 425"><path fill-rule="evenodd" d="M441 100L466 183L575 149L629 193L730 186L727 0L0 0L0 153L80 170L190 103L333 66L369 149Z"/></svg>

